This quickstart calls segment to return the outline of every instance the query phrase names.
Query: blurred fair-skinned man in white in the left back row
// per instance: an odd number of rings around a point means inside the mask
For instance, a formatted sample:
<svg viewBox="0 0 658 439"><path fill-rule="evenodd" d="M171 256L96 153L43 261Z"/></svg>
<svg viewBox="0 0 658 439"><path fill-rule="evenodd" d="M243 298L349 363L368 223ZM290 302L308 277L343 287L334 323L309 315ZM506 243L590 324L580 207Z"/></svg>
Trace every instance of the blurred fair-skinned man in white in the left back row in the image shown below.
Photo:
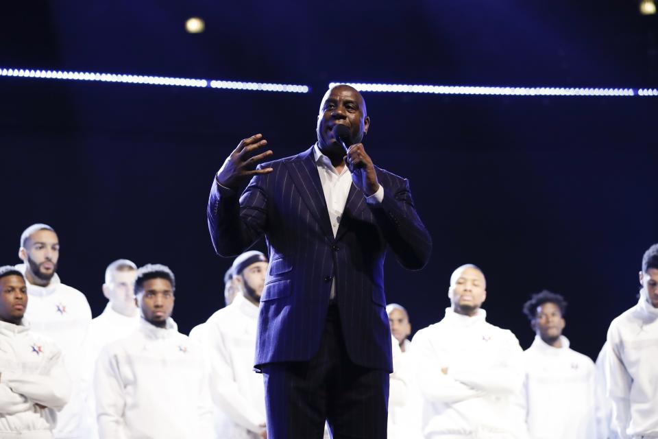
<svg viewBox="0 0 658 439"><path fill-rule="evenodd" d="M128 259L117 259L105 270L103 296L108 304L100 316L91 320L84 342L82 392L84 394L84 438L98 437L96 403L93 392L94 368L101 350L108 344L127 337L137 330L139 310L135 303L134 283L137 266Z"/></svg>

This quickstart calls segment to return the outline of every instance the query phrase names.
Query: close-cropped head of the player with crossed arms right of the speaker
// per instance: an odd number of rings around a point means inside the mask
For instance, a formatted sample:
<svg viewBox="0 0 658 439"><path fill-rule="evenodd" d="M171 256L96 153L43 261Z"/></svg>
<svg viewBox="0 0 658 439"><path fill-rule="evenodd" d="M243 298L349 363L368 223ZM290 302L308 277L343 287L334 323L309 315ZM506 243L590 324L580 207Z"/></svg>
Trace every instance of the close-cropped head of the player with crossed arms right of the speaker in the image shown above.
<svg viewBox="0 0 658 439"><path fill-rule="evenodd" d="M476 265L461 265L450 276L448 297L454 312L474 316L487 298L485 274Z"/></svg>

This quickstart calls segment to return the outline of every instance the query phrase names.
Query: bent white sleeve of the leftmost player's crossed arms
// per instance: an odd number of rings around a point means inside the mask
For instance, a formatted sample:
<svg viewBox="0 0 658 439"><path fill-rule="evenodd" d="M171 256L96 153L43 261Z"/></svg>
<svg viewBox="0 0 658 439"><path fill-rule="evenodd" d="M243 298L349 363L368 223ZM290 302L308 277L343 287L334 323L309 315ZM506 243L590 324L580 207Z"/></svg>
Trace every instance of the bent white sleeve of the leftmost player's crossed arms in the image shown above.
<svg viewBox="0 0 658 439"><path fill-rule="evenodd" d="M29 401L54 410L62 410L71 396L71 381L59 350L51 353L42 370L37 373L8 375L3 377L3 382Z"/></svg>

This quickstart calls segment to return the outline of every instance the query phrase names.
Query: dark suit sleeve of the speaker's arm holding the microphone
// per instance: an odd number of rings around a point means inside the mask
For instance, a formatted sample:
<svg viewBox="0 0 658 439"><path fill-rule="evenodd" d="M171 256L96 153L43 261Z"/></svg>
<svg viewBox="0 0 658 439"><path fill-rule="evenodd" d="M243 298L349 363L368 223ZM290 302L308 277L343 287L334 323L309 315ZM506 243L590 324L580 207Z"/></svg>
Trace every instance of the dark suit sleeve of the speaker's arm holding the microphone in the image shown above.
<svg viewBox="0 0 658 439"><path fill-rule="evenodd" d="M382 181L391 180L387 174L379 174ZM409 180L402 185L387 185L381 203L368 203L377 224L382 230L395 257L404 268L420 270L430 258L432 238L416 212L409 189Z"/></svg>

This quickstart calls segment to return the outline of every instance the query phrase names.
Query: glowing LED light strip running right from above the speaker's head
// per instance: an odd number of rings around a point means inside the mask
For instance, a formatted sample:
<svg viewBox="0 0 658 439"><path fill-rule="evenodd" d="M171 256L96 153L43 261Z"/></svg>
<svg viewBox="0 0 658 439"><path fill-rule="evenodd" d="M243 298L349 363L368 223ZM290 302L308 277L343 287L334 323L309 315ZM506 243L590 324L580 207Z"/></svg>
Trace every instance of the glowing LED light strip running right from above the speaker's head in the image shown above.
<svg viewBox="0 0 658 439"><path fill-rule="evenodd" d="M430 93L434 95L493 95L493 96L658 96L655 88L567 88L567 87L483 87L407 84L362 84L331 82L329 88L348 84L358 91L384 93Z"/></svg>

